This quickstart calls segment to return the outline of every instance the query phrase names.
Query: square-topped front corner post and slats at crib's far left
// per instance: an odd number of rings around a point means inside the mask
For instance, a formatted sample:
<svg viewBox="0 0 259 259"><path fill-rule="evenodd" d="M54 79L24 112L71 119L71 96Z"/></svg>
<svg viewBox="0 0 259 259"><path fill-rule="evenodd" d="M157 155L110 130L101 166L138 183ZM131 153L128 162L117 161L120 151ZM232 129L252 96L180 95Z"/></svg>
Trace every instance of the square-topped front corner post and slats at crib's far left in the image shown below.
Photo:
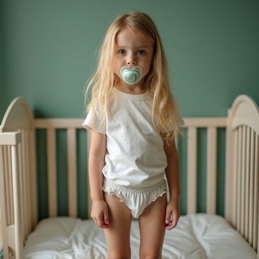
<svg viewBox="0 0 259 259"><path fill-rule="evenodd" d="M1 175L1 205L4 237L4 258L8 258L9 247L15 252L16 259L23 258L23 230L21 219L21 195L20 195L20 168L19 168L19 144L22 141L20 132L0 133L0 175ZM7 159L6 150L11 150L11 156ZM10 149L8 149L8 147ZM7 162L8 160L8 162ZM9 163L10 161L10 163ZM6 188L6 178L9 178L11 188ZM7 200L13 201L13 209L6 206ZM2 204L3 203L3 204ZM9 204L10 205L10 204Z"/></svg>

